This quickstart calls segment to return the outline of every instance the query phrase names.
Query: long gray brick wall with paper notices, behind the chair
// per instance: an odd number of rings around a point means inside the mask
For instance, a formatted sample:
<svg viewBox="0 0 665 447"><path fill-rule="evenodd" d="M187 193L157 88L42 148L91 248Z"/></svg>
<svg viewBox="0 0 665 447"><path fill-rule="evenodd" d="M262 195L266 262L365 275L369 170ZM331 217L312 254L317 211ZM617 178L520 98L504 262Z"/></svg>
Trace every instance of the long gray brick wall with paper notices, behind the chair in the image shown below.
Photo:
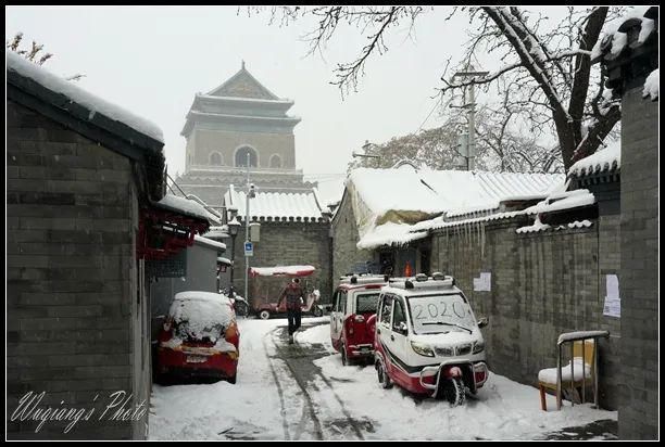
<svg viewBox="0 0 665 447"><path fill-rule="evenodd" d="M517 234L525 218L443 229L432 235L432 270L453 274L482 329L490 369L537 386L538 371L556 366L560 333L606 329L600 343L600 404L617 406L619 320L603 316L604 274L619 269L618 217L589 229ZM491 272L491 291L473 279ZM534 393L535 403L537 393ZM537 405L537 404L535 404Z"/></svg>

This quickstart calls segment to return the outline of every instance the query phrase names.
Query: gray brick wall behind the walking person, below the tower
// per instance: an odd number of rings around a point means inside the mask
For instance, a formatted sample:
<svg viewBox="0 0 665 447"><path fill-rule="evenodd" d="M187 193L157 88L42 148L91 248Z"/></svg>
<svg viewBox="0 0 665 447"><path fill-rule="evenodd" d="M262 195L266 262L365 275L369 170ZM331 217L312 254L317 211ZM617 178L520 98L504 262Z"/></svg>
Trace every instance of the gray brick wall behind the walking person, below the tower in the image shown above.
<svg viewBox="0 0 665 447"><path fill-rule="evenodd" d="M321 299L330 299L330 225L328 222L261 222L261 240L254 243L250 267L311 265L316 268L314 281L321 291ZM230 240L227 241L230 258ZM244 227L236 237L234 285L244 294ZM251 281L251 280L250 280ZM250 297L251 298L251 297Z"/></svg>

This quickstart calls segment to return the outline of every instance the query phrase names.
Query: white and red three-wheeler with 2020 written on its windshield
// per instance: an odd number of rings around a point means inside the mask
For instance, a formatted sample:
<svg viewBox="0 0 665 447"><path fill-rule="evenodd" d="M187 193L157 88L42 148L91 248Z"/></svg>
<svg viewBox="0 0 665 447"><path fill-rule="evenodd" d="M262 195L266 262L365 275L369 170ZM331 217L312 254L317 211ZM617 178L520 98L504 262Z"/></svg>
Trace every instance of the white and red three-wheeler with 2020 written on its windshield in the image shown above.
<svg viewBox="0 0 665 447"><path fill-rule="evenodd" d="M461 405L488 379L485 342L468 301L452 277L423 273L390 280L381 289L375 329L375 368L416 394Z"/></svg>

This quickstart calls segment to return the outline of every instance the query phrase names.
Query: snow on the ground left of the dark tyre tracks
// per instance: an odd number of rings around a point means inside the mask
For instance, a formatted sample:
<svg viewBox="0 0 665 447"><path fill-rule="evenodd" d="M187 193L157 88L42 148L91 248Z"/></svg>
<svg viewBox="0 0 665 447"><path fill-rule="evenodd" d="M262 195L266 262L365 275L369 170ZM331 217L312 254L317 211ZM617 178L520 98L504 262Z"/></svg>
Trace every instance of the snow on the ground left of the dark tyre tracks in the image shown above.
<svg viewBox="0 0 665 447"><path fill-rule="evenodd" d="M242 432L259 439L283 439L279 397L264 341L285 323L285 319L238 319L240 357L235 385L225 381L153 385L150 438L227 439L226 435Z"/></svg>

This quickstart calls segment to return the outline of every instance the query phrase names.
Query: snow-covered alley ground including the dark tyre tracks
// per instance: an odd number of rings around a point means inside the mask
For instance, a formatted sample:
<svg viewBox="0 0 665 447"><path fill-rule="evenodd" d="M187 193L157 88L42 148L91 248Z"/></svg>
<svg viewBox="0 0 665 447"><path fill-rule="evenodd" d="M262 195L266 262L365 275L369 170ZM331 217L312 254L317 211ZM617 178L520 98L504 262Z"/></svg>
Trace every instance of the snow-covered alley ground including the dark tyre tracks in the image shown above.
<svg viewBox="0 0 665 447"><path fill-rule="evenodd" d="M616 411L541 411L538 389L491 374L462 407L378 386L374 368L342 367L328 317L239 321L236 385L154 385L152 439L612 439ZM567 404L567 403L564 403ZM599 421L599 422L597 422Z"/></svg>

